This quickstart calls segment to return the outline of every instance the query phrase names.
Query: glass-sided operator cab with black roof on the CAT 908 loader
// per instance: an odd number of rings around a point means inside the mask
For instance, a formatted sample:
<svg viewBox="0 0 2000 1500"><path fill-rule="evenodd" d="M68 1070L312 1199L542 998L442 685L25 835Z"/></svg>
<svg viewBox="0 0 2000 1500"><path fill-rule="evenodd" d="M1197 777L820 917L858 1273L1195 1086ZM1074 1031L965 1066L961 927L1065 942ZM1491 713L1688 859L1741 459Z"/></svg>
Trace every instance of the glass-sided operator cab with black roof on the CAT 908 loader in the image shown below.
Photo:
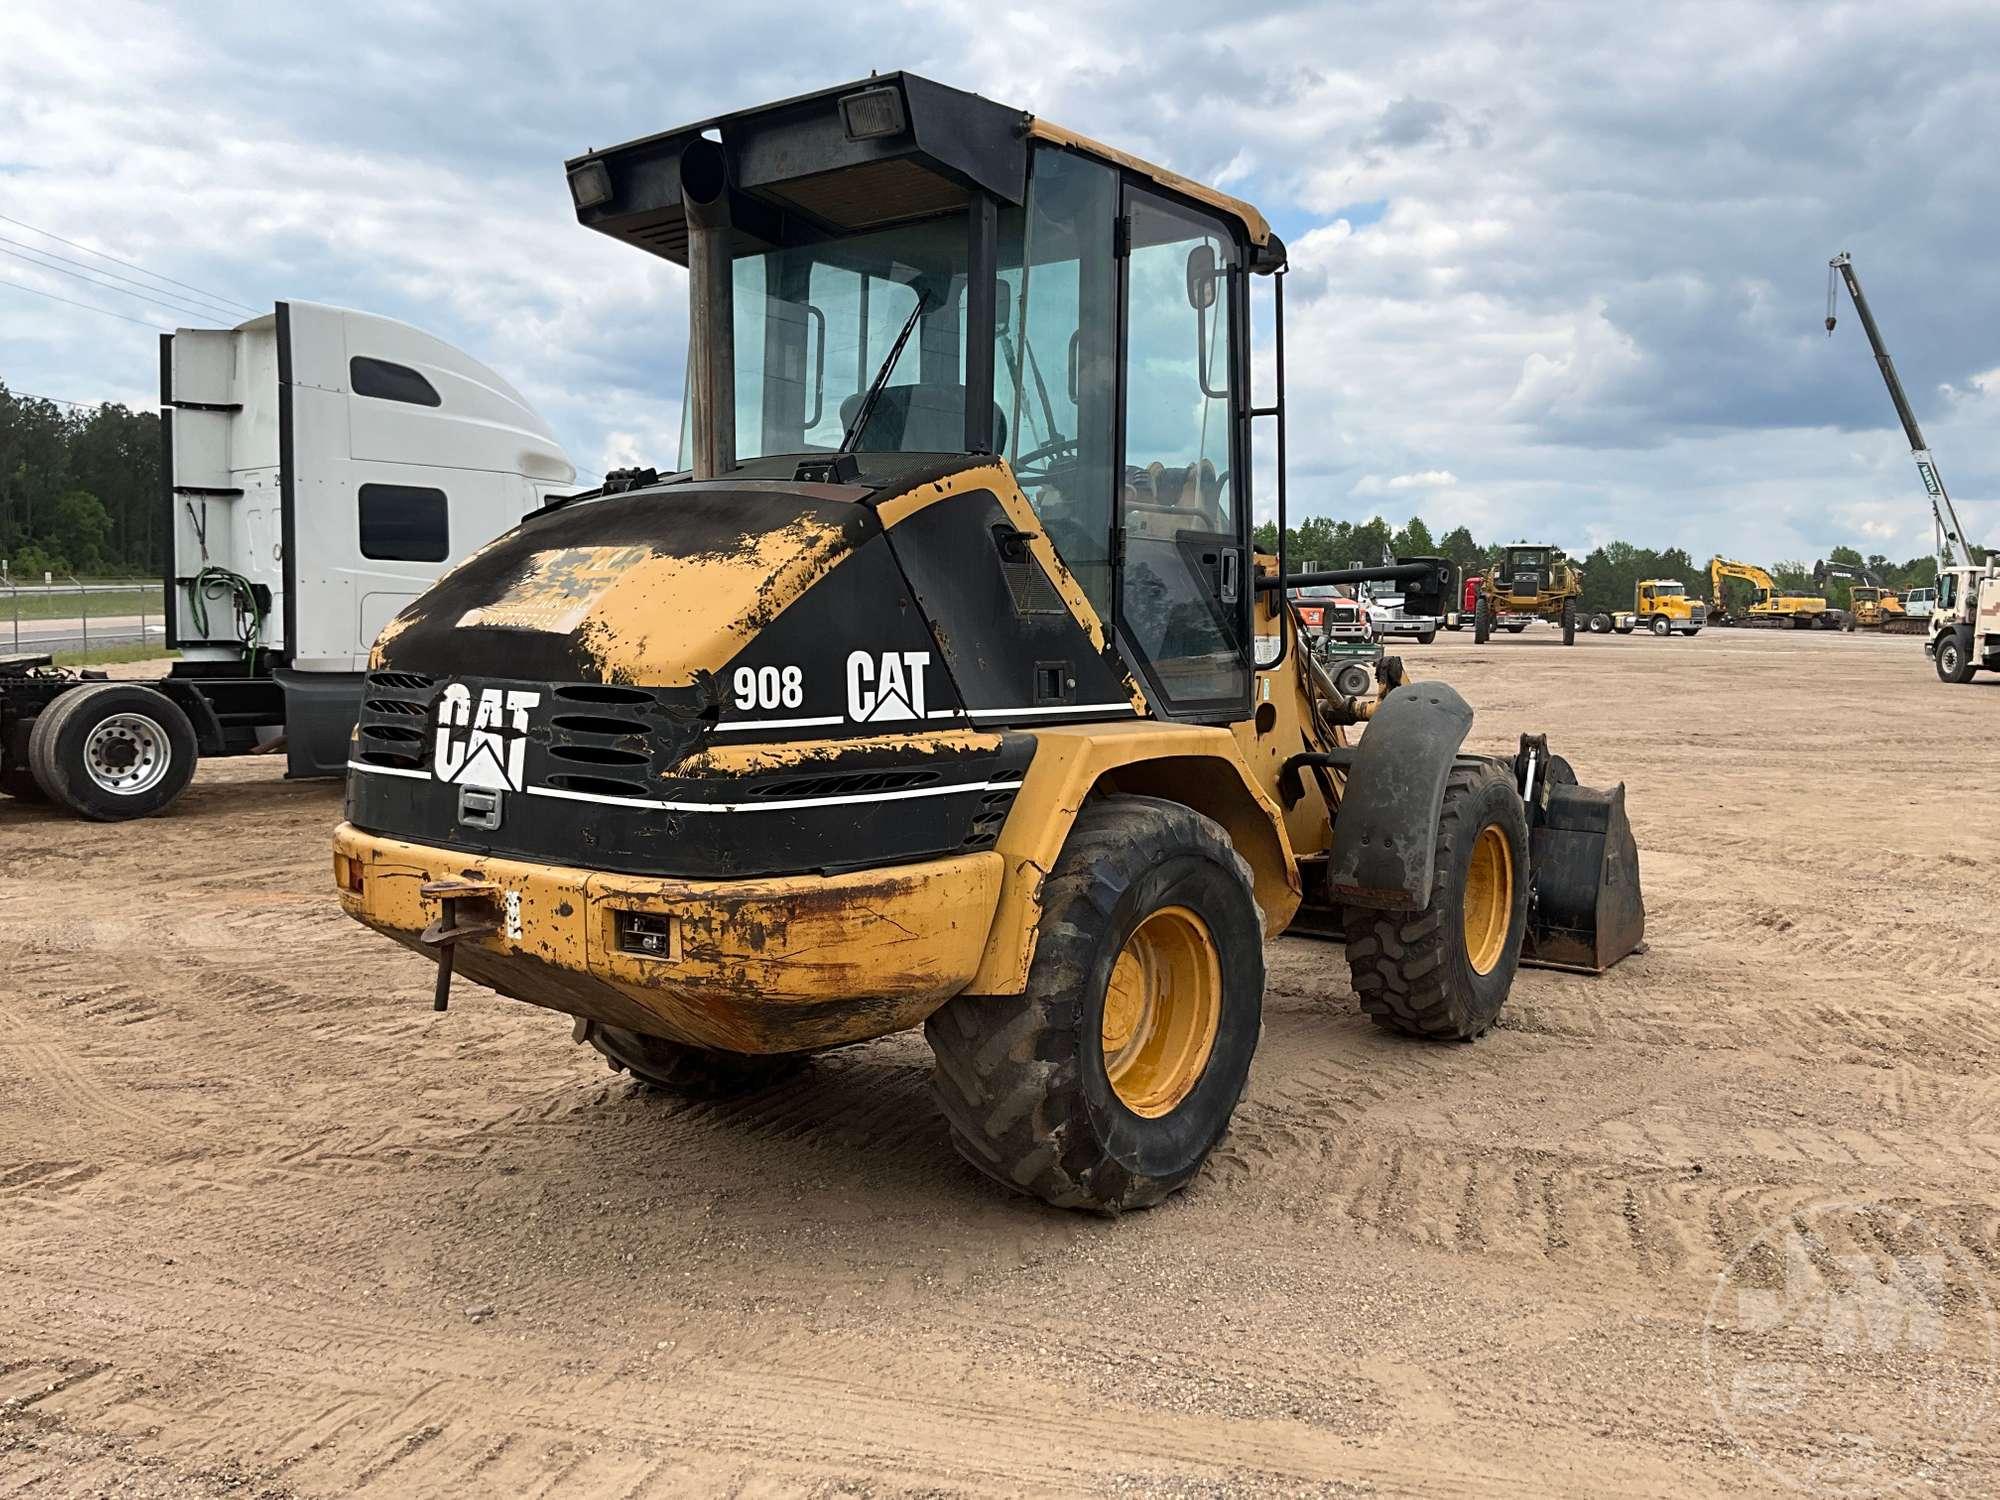
<svg viewBox="0 0 2000 1500"><path fill-rule="evenodd" d="M728 338L694 320L682 468L700 468L710 358L726 362L712 374L732 386L744 478L838 458L842 480L894 486L942 458L1004 456L1158 712L1240 718L1246 282L1284 246L1246 204L922 78L826 104L570 164L584 224L698 280L666 220L708 170L690 162L726 152L728 296L712 302L730 304Z"/></svg>

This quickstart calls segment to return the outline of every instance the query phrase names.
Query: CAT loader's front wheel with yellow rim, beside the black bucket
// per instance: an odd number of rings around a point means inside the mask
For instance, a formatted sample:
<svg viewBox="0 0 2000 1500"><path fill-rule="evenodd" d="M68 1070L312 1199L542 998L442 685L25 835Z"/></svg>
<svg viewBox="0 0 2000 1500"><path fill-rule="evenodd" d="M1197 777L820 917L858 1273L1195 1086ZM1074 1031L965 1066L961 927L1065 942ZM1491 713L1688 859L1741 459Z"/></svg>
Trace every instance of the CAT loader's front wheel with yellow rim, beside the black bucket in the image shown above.
<svg viewBox="0 0 2000 1500"><path fill-rule="evenodd" d="M1564 766L1566 768L1566 766ZM1528 928L1528 818L1514 778L1458 764L1422 912L1346 910L1348 972L1376 1026L1470 1042L1500 1016Z"/></svg>

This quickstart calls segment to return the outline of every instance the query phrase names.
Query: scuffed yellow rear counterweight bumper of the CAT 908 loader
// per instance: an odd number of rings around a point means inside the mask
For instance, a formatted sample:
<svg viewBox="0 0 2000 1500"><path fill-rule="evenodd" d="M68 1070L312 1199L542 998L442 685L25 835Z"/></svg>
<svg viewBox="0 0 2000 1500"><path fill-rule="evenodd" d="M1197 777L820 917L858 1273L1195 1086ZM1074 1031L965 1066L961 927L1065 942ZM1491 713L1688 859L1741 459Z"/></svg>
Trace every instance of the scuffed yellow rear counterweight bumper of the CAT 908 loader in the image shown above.
<svg viewBox="0 0 2000 1500"><path fill-rule="evenodd" d="M650 880L488 858L342 824L334 884L354 920L436 956L434 882L494 888L494 930L458 974L530 1004L726 1052L884 1036L966 988L1000 900L994 852L848 874ZM628 928L648 918L650 952Z"/></svg>

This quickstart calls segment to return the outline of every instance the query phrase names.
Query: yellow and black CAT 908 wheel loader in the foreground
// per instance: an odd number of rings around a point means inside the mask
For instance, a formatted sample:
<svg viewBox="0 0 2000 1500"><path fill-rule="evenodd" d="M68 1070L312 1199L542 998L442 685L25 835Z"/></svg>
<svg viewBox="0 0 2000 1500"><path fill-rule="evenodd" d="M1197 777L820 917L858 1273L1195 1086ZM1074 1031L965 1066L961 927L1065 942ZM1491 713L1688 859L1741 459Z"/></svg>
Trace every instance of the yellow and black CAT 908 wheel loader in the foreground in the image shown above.
<svg viewBox="0 0 2000 1500"><path fill-rule="evenodd" d="M1252 552L1254 208L910 74L568 176L688 266L690 462L552 502L376 646L334 878L440 1008L458 972L706 1094L924 1026L968 1162L1118 1212L1222 1136L1302 910L1424 1038L1640 942L1622 786L1300 648L1288 588L1436 614L1450 570Z"/></svg>

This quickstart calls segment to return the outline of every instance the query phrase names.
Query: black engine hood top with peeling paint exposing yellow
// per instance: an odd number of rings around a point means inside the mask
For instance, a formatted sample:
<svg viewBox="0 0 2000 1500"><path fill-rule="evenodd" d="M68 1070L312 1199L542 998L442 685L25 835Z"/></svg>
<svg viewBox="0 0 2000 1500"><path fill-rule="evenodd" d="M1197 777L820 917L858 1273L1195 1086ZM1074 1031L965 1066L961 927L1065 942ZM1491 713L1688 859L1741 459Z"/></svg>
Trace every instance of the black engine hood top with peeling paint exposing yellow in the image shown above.
<svg viewBox="0 0 2000 1500"><path fill-rule="evenodd" d="M880 538L842 484L724 480L586 500L490 542L398 614L378 670L686 686Z"/></svg>

